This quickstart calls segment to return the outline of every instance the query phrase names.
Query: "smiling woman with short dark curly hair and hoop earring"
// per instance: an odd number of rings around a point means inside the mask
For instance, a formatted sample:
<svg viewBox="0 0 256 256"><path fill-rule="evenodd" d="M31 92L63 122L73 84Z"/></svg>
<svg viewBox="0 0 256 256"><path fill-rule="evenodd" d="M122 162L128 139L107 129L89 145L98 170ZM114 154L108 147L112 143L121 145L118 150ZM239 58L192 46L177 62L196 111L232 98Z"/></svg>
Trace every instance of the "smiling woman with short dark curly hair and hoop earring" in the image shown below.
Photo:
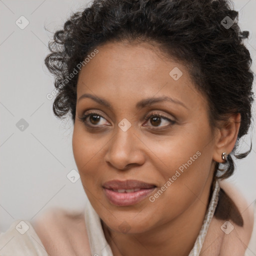
<svg viewBox="0 0 256 256"><path fill-rule="evenodd" d="M221 181L250 151L235 152L253 101L237 15L224 0L95 0L55 32L53 111L71 113L89 202L25 222L19 253L256 254L253 205Z"/></svg>

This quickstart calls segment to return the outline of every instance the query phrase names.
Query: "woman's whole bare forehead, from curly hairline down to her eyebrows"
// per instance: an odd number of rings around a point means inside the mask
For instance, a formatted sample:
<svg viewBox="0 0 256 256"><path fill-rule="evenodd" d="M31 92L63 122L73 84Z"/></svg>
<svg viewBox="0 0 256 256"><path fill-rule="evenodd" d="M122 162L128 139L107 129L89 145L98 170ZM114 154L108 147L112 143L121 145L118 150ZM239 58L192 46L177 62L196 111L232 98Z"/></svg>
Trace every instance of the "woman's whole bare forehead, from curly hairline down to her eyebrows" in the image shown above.
<svg viewBox="0 0 256 256"><path fill-rule="evenodd" d="M96 49L98 53L79 72L77 99L94 93L115 101L118 96L120 102L154 95L169 95L188 106L204 100L186 67L167 59L157 46L110 42Z"/></svg>

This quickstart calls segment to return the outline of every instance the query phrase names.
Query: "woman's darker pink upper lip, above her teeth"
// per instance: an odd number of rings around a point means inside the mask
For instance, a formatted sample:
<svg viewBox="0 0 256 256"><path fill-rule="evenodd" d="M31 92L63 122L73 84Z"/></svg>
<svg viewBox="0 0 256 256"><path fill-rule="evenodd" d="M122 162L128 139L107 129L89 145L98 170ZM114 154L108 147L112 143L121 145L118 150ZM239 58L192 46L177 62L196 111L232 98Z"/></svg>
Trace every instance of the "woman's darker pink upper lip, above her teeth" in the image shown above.
<svg viewBox="0 0 256 256"><path fill-rule="evenodd" d="M155 187L154 184L146 183L140 180L127 179L127 180L109 180L103 184L104 188L108 189L135 189L135 188L151 188Z"/></svg>

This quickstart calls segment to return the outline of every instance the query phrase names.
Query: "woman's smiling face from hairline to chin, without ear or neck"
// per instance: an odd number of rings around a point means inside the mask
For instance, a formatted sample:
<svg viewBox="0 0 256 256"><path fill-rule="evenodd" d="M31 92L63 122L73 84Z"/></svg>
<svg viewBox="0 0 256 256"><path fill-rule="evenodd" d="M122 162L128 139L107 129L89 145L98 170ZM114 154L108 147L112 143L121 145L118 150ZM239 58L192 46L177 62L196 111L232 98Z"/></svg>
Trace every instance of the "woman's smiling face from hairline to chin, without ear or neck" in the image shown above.
<svg viewBox="0 0 256 256"><path fill-rule="evenodd" d="M187 69L142 43L97 50L79 73L72 146L100 218L139 233L206 207L215 142Z"/></svg>

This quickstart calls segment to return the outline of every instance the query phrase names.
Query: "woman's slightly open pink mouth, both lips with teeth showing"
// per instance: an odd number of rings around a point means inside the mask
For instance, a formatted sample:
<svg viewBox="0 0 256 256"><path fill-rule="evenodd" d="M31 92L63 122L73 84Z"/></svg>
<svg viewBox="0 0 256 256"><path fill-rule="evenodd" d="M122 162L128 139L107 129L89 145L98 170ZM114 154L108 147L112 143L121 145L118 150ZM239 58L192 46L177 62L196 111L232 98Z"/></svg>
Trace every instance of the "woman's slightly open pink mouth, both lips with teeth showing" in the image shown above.
<svg viewBox="0 0 256 256"><path fill-rule="evenodd" d="M128 206L145 199L156 188L154 184L139 180L110 180L103 184L104 193L111 204Z"/></svg>

